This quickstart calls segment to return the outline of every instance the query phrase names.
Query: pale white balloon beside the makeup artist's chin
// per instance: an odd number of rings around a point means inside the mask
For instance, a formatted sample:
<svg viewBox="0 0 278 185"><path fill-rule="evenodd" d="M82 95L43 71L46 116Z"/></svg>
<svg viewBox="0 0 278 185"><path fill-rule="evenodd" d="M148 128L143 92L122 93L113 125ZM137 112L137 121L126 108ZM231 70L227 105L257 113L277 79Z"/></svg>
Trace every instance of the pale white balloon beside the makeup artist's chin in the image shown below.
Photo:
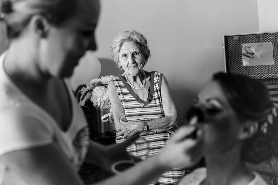
<svg viewBox="0 0 278 185"><path fill-rule="evenodd" d="M70 77L71 88L75 91L80 84L86 84L90 80L98 78L100 71L99 60L94 57L92 51L87 51L79 60L79 64L74 68L73 75Z"/></svg>

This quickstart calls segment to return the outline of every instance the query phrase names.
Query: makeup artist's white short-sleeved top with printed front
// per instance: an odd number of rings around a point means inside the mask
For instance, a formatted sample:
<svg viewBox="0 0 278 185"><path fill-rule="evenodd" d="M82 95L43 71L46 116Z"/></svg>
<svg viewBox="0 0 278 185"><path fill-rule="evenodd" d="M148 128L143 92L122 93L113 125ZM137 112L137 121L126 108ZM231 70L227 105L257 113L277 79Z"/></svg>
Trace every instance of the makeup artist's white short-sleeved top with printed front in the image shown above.
<svg viewBox="0 0 278 185"><path fill-rule="evenodd" d="M3 68L6 54L0 56L0 157L11 151L57 143L78 171L89 146L89 131L69 83L64 81L71 97L72 119L69 128L62 131L53 117L24 95L7 76ZM0 184L27 185L1 158Z"/></svg>

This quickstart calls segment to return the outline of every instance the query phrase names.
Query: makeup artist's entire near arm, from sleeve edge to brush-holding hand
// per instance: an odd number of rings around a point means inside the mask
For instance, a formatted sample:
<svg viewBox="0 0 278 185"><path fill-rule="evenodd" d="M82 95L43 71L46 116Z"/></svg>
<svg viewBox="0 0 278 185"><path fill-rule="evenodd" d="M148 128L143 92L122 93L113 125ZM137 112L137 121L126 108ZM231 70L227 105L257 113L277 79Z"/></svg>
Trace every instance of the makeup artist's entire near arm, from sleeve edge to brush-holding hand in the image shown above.
<svg viewBox="0 0 278 185"><path fill-rule="evenodd" d="M186 139L193 130L193 127L181 128L157 155L138 163L135 167L119 175L96 184L144 185L173 167L193 166L200 159L200 149L202 148L200 147L201 140ZM117 146L120 144L114 147ZM95 146L91 147L94 148ZM104 149L105 147L101 148ZM94 149L95 153L104 154L102 158L108 157L107 152L113 155L109 147L103 151L99 151L99 148ZM55 143L12 151L3 154L1 161L26 184L83 185L68 157Z"/></svg>

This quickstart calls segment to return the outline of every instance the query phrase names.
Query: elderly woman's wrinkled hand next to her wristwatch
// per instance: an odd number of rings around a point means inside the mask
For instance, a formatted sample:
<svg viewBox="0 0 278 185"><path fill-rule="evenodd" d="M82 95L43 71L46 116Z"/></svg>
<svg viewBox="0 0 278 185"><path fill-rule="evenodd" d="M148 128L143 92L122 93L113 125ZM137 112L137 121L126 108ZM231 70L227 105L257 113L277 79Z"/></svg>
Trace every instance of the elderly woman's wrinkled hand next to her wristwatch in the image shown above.
<svg viewBox="0 0 278 185"><path fill-rule="evenodd" d="M143 131L142 121L123 121L120 120L120 131L117 132L118 136L123 135L123 138L129 138L136 133Z"/></svg>

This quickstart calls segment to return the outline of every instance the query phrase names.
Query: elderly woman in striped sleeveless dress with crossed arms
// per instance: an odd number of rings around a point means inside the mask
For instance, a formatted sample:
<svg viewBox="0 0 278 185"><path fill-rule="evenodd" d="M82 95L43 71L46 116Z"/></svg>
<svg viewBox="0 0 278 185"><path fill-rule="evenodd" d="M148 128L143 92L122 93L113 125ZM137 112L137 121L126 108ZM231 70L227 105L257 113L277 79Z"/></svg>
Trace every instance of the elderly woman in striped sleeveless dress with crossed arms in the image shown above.
<svg viewBox="0 0 278 185"><path fill-rule="evenodd" d="M149 144L146 157L165 146L178 128L177 111L164 75L143 68L150 58L147 39L137 31L124 31L112 43L111 55L122 70L114 83L108 85L108 95L117 130L117 143L136 133ZM144 151L133 155L144 157ZM184 175L183 168L167 171L154 184L172 184Z"/></svg>

